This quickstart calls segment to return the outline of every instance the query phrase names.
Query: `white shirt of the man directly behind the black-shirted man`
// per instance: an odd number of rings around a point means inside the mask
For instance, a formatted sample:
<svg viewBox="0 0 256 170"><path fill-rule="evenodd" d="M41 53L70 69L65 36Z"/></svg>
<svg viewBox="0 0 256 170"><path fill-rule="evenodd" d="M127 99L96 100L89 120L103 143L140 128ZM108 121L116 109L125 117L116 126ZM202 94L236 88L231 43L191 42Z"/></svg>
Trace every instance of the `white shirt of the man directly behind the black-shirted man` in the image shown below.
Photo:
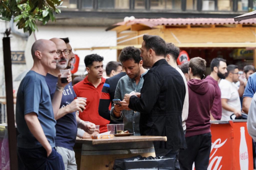
<svg viewBox="0 0 256 170"><path fill-rule="evenodd" d="M179 67L176 67L176 70L179 71L179 73L181 74L186 86L186 95L185 95L184 104L182 108L182 127L183 127L183 130L185 131L186 130L185 121L187 120L187 116L189 115L189 91L187 89L187 80L186 80L186 77L184 76L184 73L181 71Z"/></svg>

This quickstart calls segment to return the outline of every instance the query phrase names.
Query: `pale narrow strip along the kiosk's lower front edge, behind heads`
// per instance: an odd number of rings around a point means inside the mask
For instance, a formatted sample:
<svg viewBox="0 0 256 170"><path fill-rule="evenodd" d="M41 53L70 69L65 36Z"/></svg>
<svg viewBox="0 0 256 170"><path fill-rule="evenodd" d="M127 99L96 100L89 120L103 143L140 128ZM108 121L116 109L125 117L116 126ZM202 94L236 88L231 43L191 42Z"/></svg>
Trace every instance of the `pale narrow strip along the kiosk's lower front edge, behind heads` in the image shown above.
<svg viewBox="0 0 256 170"><path fill-rule="evenodd" d="M110 47L90 47L90 48L75 48L75 51L80 50L88 50L92 51L95 49L117 49L121 50L124 49L124 47L128 46L134 46L136 48L142 47L141 44L134 44L134 45L126 45L126 46L110 46ZM237 48L248 48L248 47L256 47L256 42L223 42L223 43L177 43L175 44L177 47L186 47L186 48L193 48L193 47L237 47Z"/></svg>

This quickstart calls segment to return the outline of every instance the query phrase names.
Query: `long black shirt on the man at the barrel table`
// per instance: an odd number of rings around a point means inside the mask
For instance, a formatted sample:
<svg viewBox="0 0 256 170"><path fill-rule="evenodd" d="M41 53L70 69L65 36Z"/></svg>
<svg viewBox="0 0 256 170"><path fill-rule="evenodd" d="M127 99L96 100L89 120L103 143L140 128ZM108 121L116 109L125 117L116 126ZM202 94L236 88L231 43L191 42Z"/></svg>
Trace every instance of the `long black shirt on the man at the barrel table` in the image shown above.
<svg viewBox="0 0 256 170"><path fill-rule="evenodd" d="M155 149L186 148L181 117L185 95L181 74L161 59L144 76L140 98L130 97L129 108L140 112L140 134L167 137L167 142L154 142Z"/></svg>

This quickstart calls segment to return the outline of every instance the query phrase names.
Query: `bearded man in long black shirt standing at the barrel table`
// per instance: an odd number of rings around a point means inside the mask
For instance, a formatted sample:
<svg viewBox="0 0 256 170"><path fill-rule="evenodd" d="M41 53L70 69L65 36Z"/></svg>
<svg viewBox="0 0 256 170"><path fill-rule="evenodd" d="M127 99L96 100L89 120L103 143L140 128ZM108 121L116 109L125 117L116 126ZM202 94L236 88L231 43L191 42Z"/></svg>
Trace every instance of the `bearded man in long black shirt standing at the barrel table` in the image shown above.
<svg viewBox="0 0 256 170"><path fill-rule="evenodd" d="M186 148L182 129L182 108L186 87L181 74L164 59L166 42L160 36L143 36L141 57L151 69L144 76L140 94L126 94L129 108L140 112L142 136L166 136L167 142L154 142L156 156L175 158L179 169L179 149Z"/></svg>

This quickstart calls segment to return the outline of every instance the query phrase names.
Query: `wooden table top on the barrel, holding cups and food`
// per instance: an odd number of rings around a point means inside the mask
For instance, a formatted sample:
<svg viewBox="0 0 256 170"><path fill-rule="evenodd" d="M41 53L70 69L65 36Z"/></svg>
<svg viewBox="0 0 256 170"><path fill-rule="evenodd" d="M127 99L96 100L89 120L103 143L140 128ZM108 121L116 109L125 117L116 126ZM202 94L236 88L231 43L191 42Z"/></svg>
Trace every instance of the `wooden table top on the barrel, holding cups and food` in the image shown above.
<svg viewBox="0 0 256 170"><path fill-rule="evenodd" d="M147 142L147 141L167 141L166 136L123 136L123 137L113 137L110 139L80 139L77 137L76 143L91 143L93 145L98 144L111 144L120 142Z"/></svg>

